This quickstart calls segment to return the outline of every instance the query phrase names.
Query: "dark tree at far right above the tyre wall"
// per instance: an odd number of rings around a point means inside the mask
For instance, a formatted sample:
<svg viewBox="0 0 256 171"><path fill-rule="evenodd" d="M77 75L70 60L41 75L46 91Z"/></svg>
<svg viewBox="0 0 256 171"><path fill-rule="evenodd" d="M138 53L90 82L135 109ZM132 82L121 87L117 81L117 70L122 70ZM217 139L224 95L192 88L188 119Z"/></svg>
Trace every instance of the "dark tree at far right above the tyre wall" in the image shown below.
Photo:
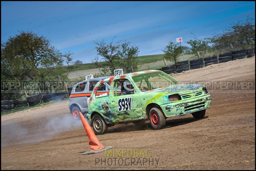
<svg viewBox="0 0 256 171"><path fill-rule="evenodd" d="M220 52L235 51L245 48L255 47L255 23L253 18L248 18L223 30L221 34L213 34L207 38L214 49Z"/></svg>

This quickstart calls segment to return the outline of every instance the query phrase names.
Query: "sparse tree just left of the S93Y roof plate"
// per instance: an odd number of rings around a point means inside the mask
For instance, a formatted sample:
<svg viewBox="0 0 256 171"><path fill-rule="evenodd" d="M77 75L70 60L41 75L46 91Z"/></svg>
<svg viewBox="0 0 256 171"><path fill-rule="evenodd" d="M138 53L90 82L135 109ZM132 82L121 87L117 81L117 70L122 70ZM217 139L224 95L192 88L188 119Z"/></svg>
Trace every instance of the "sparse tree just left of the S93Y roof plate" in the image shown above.
<svg viewBox="0 0 256 171"><path fill-rule="evenodd" d="M118 50L120 41L113 44L113 39L110 43L106 43L104 39L101 42L94 42L97 45L95 46L97 55L103 57L104 61L104 63L99 64L98 57L93 61L95 65L101 66L100 75L112 75L114 70L119 67L118 63L120 58L118 56Z"/></svg>

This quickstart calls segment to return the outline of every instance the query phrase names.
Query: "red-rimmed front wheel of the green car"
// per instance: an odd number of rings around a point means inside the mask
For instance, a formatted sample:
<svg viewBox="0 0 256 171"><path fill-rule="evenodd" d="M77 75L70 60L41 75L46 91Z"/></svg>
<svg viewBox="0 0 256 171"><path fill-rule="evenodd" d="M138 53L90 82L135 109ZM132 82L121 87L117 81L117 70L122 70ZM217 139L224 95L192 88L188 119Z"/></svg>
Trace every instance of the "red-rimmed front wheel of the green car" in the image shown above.
<svg viewBox="0 0 256 171"><path fill-rule="evenodd" d="M165 126L165 117L163 112L153 107L149 112L150 124L154 129L163 129Z"/></svg>

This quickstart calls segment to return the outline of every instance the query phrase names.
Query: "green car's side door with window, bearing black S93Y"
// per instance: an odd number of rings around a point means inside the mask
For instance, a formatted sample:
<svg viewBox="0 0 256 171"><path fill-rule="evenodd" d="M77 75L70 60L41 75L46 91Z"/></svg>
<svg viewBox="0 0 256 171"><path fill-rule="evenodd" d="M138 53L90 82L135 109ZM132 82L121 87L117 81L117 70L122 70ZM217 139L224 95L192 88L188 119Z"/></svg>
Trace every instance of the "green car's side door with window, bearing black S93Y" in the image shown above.
<svg viewBox="0 0 256 171"><path fill-rule="evenodd" d="M124 81L128 79L115 79L113 81L113 90L110 97L110 111L119 121L136 120L144 118L142 105L140 101L139 90L135 88L131 94L123 95L122 91ZM129 80L130 82L130 80ZM130 82L131 83L131 82ZM134 85L132 85L134 87ZM121 92L118 92L120 91Z"/></svg>

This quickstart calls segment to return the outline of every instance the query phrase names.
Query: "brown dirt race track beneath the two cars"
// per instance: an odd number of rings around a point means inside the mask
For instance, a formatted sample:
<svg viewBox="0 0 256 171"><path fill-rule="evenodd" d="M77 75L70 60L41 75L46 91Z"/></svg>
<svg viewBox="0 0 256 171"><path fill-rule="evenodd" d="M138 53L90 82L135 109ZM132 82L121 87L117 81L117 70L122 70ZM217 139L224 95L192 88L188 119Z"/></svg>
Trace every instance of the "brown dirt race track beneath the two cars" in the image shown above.
<svg viewBox="0 0 256 171"><path fill-rule="evenodd" d="M179 81L247 81L255 85L255 57L174 77ZM153 130L149 121L143 128L119 124L97 137L105 146L148 148L153 158L160 158L158 168L124 169L254 170L255 87L208 89L212 106L203 119L190 114L169 118L162 130ZM68 101L1 116L1 169L122 169L95 166L95 159L103 158L104 153L80 153L89 150L80 122L70 122Z"/></svg>

